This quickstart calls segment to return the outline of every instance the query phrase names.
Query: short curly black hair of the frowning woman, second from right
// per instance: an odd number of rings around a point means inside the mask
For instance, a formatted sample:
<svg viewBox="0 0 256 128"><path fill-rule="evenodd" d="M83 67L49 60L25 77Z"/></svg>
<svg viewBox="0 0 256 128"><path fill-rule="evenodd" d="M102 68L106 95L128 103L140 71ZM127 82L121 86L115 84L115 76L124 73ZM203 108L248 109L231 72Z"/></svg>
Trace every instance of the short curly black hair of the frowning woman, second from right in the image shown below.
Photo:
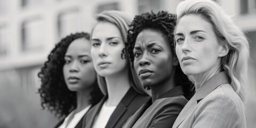
<svg viewBox="0 0 256 128"><path fill-rule="evenodd" d="M135 15L132 23L131 29L128 31L127 36L127 43L128 45L125 47L125 57L129 57L130 61L133 65L134 55L133 55L133 48L137 39L137 36L143 30L153 30L157 33L160 33L170 45L171 52L173 54L174 60L178 60L175 54L175 47L174 47L174 28L176 26L177 16L175 14L168 13L167 11L159 11L158 13L146 12L142 13L141 15ZM171 65L171 63L170 63ZM176 66L175 70L175 84L182 85L183 90L186 94L189 94L187 99L193 95L191 93L191 83L185 74L183 74L180 65ZM190 94L191 93L191 94Z"/></svg>

